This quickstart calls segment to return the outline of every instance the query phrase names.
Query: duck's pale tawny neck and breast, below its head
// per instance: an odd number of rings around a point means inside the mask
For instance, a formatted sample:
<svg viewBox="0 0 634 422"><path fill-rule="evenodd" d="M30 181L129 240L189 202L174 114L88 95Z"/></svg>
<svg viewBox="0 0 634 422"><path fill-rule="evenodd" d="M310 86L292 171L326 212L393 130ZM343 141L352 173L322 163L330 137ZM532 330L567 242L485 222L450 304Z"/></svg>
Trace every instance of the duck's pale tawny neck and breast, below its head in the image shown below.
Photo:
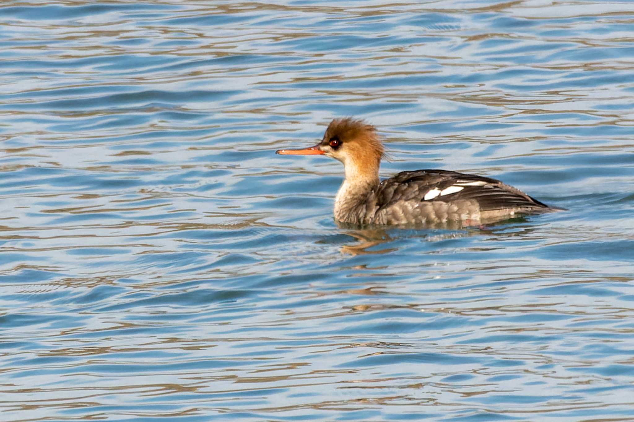
<svg viewBox="0 0 634 422"><path fill-rule="evenodd" d="M335 197L335 219L348 223L362 223L366 213L368 195L378 186L378 163L376 166L344 163L346 178Z"/></svg>

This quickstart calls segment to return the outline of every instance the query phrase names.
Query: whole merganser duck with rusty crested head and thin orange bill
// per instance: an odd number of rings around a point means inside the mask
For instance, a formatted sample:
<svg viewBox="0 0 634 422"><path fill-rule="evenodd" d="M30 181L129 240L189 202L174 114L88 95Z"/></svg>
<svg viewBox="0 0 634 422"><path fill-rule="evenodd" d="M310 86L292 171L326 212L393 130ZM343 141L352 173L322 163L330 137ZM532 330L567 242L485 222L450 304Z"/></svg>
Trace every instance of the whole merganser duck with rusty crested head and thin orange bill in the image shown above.
<svg viewBox="0 0 634 422"><path fill-rule="evenodd" d="M384 147L363 120L333 120L323 139L306 149L276 154L325 155L344 164L346 177L335 197L335 220L353 225L482 225L515 214L557 211L493 178L448 170L401 171L379 181Z"/></svg>

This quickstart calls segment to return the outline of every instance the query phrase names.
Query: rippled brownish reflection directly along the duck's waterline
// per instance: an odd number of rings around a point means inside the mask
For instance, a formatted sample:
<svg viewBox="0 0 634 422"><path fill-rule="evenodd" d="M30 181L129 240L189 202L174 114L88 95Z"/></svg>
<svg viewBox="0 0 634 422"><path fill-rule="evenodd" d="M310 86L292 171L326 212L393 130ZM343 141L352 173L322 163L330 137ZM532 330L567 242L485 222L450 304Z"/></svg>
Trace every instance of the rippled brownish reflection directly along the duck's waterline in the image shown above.
<svg viewBox="0 0 634 422"><path fill-rule="evenodd" d="M397 247L387 247L385 249L372 249L377 245L387 244L403 237L418 237L428 242L439 242L446 239L456 239L459 237L470 237L474 235L488 235L491 237L503 235L512 237L525 235L533 232L532 226L526 226L529 220L526 216L502 221L478 221L477 225L471 225L469 221L446 221L434 225L401 225L391 227L359 227L350 223L337 221L337 227L345 230L344 233L356 239L356 242L341 247L342 254L367 255L367 254L387 254L398 251ZM517 224L521 226L517 227ZM388 233L389 231L389 233Z"/></svg>

